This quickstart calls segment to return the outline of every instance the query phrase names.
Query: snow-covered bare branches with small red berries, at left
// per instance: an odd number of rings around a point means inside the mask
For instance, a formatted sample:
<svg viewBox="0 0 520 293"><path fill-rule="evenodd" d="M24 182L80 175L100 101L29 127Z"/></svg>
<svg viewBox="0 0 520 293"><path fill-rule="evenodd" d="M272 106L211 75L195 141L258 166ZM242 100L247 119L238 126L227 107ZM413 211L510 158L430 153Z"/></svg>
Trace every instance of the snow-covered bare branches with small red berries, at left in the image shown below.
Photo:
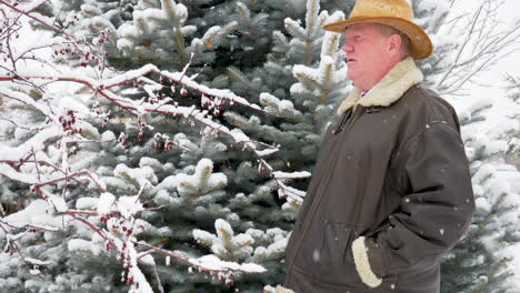
<svg viewBox="0 0 520 293"><path fill-rule="evenodd" d="M87 142L108 142L108 141L114 141L114 140L107 140L107 141L98 141L98 140L88 140L83 135L81 135L81 129L77 128L76 125L76 119L80 121L82 118L76 118L76 113L71 110L69 110L67 115L60 115L60 110L57 107L52 107L49 100L47 99L41 99L41 100L36 100L32 97L29 97L27 94L23 95L22 92L19 91L22 87L29 85L34 89L37 89L40 93L44 93L46 87L49 85L50 83L53 82L72 82L72 83L80 83L87 88L89 88L92 93L97 97L103 97L107 100L109 100L112 104L117 105L119 109L122 109L136 117L138 117L139 120L141 120L141 117L144 113L157 113L157 114L164 114L164 115L173 115L173 117L183 117L187 121L196 121L216 133L221 133L224 135L230 137L234 142L239 145L242 145L242 150L251 150L257 156L258 156L258 162L261 165L262 169L264 169L267 172L271 173L271 178L279 184L280 189L286 190L286 194L291 196L294 201L301 202L301 196L302 194L299 193L299 191L291 189L289 186L284 185L283 178L277 178L274 176L274 170L267 163L266 160L262 159L262 155L260 151L257 150L257 148L263 146L267 149L277 149L277 146L269 145L267 143L260 142L260 141L253 141L250 140L247 137L237 137L234 135L228 128L226 128L222 124L219 124L214 122L210 113L213 111L213 113L218 113L219 110L228 107L228 105L234 105L234 104L240 104L243 107L248 107L254 111L262 112L264 114L270 114L269 112L262 110L258 105L250 104L246 99L234 95L230 91L226 90L217 90L217 89L210 89L208 87L198 84L196 81L193 81L192 78L189 78L186 75L186 71L189 64L184 68L182 72L168 72L168 71L161 71L157 67L153 65L146 65L141 69L122 73L119 77L112 78L112 79L102 79L103 74L99 74L98 80L92 80L92 79L87 79L87 78L71 78L67 75L62 77L51 77L51 75L22 75L19 74L18 72L18 67L17 62L23 61L23 60L34 60L34 61L40 61L44 62L47 64L47 61L44 60L39 60L36 58L32 53L36 50L44 49L44 48L53 48L56 46L71 46L76 48L78 51L77 55L82 55L83 54L83 48L80 48L80 46L87 47L88 52L91 54L96 54L99 57L99 62L102 62L103 65L100 65L99 70L102 72L104 69L104 53L103 49L101 48L101 53L98 52L96 48L93 48L91 44L89 44L84 39L78 39L74 36L68 33L64 29L58 28L54 24L47 23L44 20L42 20L39 14L32 13L38 7L43 4L46 1L41 0L39 2L36 2L36 6L32 7L28 11L23 11L22 9L16 7L14 4L11 4L8 1L0 0L1 6L6 6L10 8L11 10L18 12L19 14L14 18L9 20L9 27L7 30L3 30L0 32L0 40L2 41L2 47L0 48L0 53L2 54L3 58L9 59L10 65L9 64L2 64L0 65L0 69L3 69L3 74L0 75L0 82L4 82L10 84L17 84L17 89L14 91L9 90L8 88L0 88L0 99L12 99L17 100L23 104L27 104L28 107L32 107L36 109L36 111L41 112L47 118L46 124L52 122L54 125L57 125L58 130L60 130L57 133L53 133L52 135L48 137L42 143L48 143L49 141L58 141L58 145L61 145L61 148L67 149L67 145L73 144L73 143L87 143ZM1 10L1 13L4 11ZM27 49L26 51L21 52L19 55L14 55L14 52L12 51L12 43L11 43L11 38L13 38L17 33L18 30L20 29L20 18L22 16L29 17L32 20L39 22L40 24L43 24L58 34L62 36L64 38L64 41L60 42L50 42L47 46L37 46ZM7 23L7 22L6 22ZM6 51L4 51L6 50ZM69 51L67 52L69 53ZM73 52L72 52L73 53ZM194 107L192 108L186 108L186 107L178 107L177 103L172 102L172 98L164 98L164 97L159 97L154 92L161 90L163 85L161 83L158 83L151 79L148 78L148 75L157 75L161 80L168 80L169 82L177 83L179 87L182 87L181 94L183 92L186 93L187 90L189 89L192 93L196 93L197 95L206 97L207 99L210 100L209 104L203 105L208 108L207 110L199 110L196 109ZM126 98L121 94L118 94L118 90L121 85L134 85L141 89L144 89L146 92L148 93L148 100L142 99L141 101L134 101L132 99ZM152 90L150 90L151 87ZM94 114L92 114L96 117ZM98 113L98 117L100 117L101 113ZM108 117L109 114L106 114ZM42 132L46 130L46 127L41 128L30 128L30 127L23 127L20 125L20 123L16 122L12 119L1 117L1 120L9 121L10 123L14 124L17 128L28 130L30 132ZM72 121L71 121L72 120ZM60 129L62 127L62 129ZM141 128L147 128L147 123L141 121L140 122ZM160 133L159 133L160 134ZM124 135L122 135L122 139L120 137L119 142L123 143L124 142ZM170 141L173 143L172 141ZM30 146L30 145L29 145ZM179 145L180 146L180 145ZM187 150L183 146L180 146ZM108 229L108 222L111 220L119 221L118 223L123 226L123 225L134 225L136 220L132 218L126 219L123 218L120 213L117 211L111 212L109 215L102 215L99 214L97 211L89 211L89 210L72 210L68 209L68 206L60 205L61 202L54 202L54 200L63 200L64 193L67 191L67 188L69 186L69 181L77 182L78 184L89 184L89 182L93 183L97 188L97 190L90 189L90 192L92 193L100 193L100 192L106 192L104 190L104 184L102 184L98 178L96 176L94 173L92 173L89 170L80 170L80 171L71 171L70 168L68 166L67 160L68 153L67 150L62 150L63 156L62 156L62 166L54 165L51 162L46 161L44 159L41 159L39 155L40 150L37 150L34 148L30 148L30 151L24 153L22 156L13 159L13 160L6 160L7 158L0 158L0 176L8 178L11 181L20 182L22 184L29 184L31 186L31 191L36 192L39 194L43 200L46 200L51 206L53 206L57 211L57 215L62 216L63 221L63 226L64 222L67 219L67 222L70 221L78 221L87 225L91 231L93 231L96 234L98 234L101 239L103 239L107 243L107 251L116 251L120 253L120 257L118 259L121 263L124 264L124 267L128 270L127 271L127 282L129 284L132 284L132 276L130 276L130 271L131 271L131 265L129 261L129 255L130 253L127 252L128 245L137 245L141 246L144 249L150 250L150 252L159 253L166 256L171 256L179 262L186 263L190 267L194 267L199 270L199 272L202 273L209 273L211 275L216 274L218 277L221 279L221 281L232 282L232 277L237 273L262 273L261 270L257 271L247 271L244 269L214 269L214 267L207 267L203 265L202 262L199 262L198 260L192 260L187 257L186 255L178 253L178 252L171 252L163 250L161 247L157 247L153 245L150 245L148 243L144 243L142 241L137 241L133 238L133 233L131 230L118 230L119 228L112 226L112 230L117 230L116 232L123 234L122 238L116 235L110 229ZM33 166L33 168L32 168ZM44 168L43 168L44 166ZM24 172L28 172L27 170L36 170L36 178L32 176L27 176ZM46 170L46 171L43 171ZM29 171L29 172L31 172ZM58 173L58 175L56 174ZM63 193L61 196L54 196L51 193L49 193L48 189L46 186L56 186L58 184L64 184ZM139 198L138 198L139 201ZM64 202L63 202L64 203ZM140 204L137 202L137 204ZM66 209L64 209L66 208ZM160 206L161 208L161 206ZM160 208L150 208L148 210L157 210ZM97 220L94 220L97 219ZM99 221L99 222L92 222L92 221ZM107 229L103 228L103 224L107 225ZM26 234L26 233L31 233L36 232L38 230L40 231L61 231L58 228L53 226L43 226L43 225L34 225L34 224L24 224L24 225L13 225L9 223L9 221L4 220L4 218L0 219L0 229L3 231L3 234L7 236L10 236L12 231L16 230L22 230L21 234L19 236ZM136 232L137 233L137 232ZM10 251L11 252L18 252L20 255L23 257L22 251L17 246L16 241L19 238L11 239L9 241L10 245ZM151 264L147 261L144 261L144 254L138 257L138 262L144 265L152 266L153 272L156 272L156 277L158 279L157 274L157 267L154 264ZM30 261L24 260L28 265L31 264ZM159 291L163 291L163 289L160 286L160 282L158 281L159 285Z"/></svg>

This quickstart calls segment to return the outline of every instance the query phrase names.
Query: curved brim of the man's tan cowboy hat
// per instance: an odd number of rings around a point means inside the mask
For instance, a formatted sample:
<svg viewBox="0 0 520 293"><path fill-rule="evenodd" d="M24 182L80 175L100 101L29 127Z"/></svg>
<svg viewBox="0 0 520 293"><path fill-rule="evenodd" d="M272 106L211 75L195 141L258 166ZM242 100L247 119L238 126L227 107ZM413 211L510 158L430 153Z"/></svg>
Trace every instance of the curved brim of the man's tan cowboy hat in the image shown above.
<svg viewBox="0 0 520 293"><path fill-rule="evenodd" d="M410 55L413 59L424 59L433 52L433 44L421 27L402 18L392 17L361 17L332 22L323 27L327 31L343 33L348 26L374 22L392 27L407 34L411 41Z"/></svg>

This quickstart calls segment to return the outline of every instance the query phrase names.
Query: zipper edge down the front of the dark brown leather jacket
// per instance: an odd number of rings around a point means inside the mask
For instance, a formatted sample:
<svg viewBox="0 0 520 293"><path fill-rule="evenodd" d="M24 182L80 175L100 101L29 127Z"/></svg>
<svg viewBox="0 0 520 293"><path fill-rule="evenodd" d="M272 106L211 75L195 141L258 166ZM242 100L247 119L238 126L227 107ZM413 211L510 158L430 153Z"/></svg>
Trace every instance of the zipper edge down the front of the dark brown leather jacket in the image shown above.
<svg viewBox="0 0 520 293"><path fill-rule="evenodd" d="M356 109L356 110L357 110L357 109ZM362 110L361 110L361 111L353 111L353 112L349 115L350 119L346 119L346 117L347 117L347 113L346 113L346 115L343 117L343 120L342 120L341 123L340 123L340 127L339 127L337 130L338 130L339 132L341 132L343 129L346 129L347 132L350 131L350 129L352 128L352 125L354 124L354 122L359 119L359 117L361 117L362 112L363 112ZM348 123L347 123L347 122L348 122ZM338 133L339 133L339 132L338 132ZM337 133L336 133L336 130L334 130L334 134L337 134ZM339 145L341 145L341 144L343 143L344 138L346 138L347 135L348 135L347 133L343 134L343 139L341 140L341 142L339 143ZM339 151L336 151L334 155L330 156L331 160L332 160L332 162L336 161L336 158L337 158L338 153L339 153ZM331 161L331 160L329 160L329 161ZM334 165L334 166L336 166L336 165ZM319 188L320 188L320 189L319 189L319 192L320 192L320 193L318 194L317 198L314 198L314 201L312 202L311 208L309 209L309 215L306 216L304 222L303 222L302 225L301 225L301 230L300 230L301 233L300 233L299 238L294 240L294 245L293 245L294 249L293 249L293 252L291 253L290 259L289 259L289 262L288 262L288 275L290 275L291 272L292 272L292 267L293 267L293 264L294 264L296 255L298 254L298 251L299 251L300 247L301 247L301 243L303 242L303 239L304 239L304 236L306 236L306 234L307 234L307 231L309 230L309 225L310 225L310 223L312 222L312 219L314 218L314 214L316 214L316 212L317 212L317 210L318 210L318 205L319 205L319 203L320 203L320 201L321 201L321 199L322 199L323 192L324 192L324 190L326 190L324 186L327 185L327 183L329 183L330 176L332 175L333 171L334 171L334 169L330 170L330 172L327 174L326 180L322 181L322 182L324 182L324 183L323 183L323 184L320 184L320 186L319 186Z"/></svg>

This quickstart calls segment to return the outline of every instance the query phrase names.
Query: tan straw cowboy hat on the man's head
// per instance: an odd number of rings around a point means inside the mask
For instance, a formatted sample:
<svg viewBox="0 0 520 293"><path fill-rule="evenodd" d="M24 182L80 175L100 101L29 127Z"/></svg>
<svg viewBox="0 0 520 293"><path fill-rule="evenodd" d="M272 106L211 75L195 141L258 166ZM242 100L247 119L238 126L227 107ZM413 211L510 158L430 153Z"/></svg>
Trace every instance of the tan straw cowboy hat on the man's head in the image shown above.
<svg viewBox="0 0 520 293"><path fill-rule="evenodd" d="M406 0L357 0L349 19L326 24L323 29L342 33L348 26L363 22L386 24L407 34L413 59L424 59L433 51L426 31L413 23L413 10Z"/></svg>

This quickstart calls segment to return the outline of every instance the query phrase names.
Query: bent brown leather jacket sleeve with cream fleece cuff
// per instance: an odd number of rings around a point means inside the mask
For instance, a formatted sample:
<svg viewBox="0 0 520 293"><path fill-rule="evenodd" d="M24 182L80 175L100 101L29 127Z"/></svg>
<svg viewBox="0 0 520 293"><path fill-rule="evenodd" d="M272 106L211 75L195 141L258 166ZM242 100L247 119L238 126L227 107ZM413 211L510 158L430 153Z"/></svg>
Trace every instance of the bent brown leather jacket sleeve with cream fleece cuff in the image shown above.
<svg viewBox="0 0 520 293"><path fill-rule="evenodd" d="M466 232L474 212L471 178L457 127L436 122L398 154L407 192L386 228L352 243L361 280L371 287L382 277L437 265Z"/></svg>

